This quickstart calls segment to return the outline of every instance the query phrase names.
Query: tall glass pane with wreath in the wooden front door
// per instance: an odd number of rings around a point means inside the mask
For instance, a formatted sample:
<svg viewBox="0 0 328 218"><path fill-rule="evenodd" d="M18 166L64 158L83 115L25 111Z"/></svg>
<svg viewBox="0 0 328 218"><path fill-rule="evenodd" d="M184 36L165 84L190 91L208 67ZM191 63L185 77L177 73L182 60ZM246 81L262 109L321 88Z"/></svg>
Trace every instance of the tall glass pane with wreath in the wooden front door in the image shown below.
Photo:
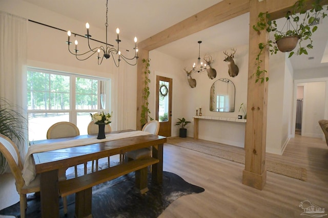
<svg viewBox="0 0 328 218"><path fill-rule="evenodd" d="M159 80L158 121L169 121L169 82Z"/></svg>

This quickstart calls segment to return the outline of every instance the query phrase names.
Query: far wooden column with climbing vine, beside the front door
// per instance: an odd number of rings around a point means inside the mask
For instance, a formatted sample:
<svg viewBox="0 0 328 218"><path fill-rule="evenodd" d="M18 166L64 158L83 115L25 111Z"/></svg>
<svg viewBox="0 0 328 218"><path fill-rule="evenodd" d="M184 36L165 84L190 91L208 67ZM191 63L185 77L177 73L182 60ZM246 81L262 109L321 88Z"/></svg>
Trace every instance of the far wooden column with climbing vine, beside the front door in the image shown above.
<svg viewBox="0 0 328 218"><path fill-rule="evenodd" d="M145 69L146 64L142 63L142 59L148 59L149 58L149 51L145 49L139 49L138 51L138 65L137 65L137 120L136 120L136 129L141 130L141 106L144 104L144 99L142 98L142 95L144 93L144 87L145 87ZM147 115L146 115L147 116Z"/></svg>

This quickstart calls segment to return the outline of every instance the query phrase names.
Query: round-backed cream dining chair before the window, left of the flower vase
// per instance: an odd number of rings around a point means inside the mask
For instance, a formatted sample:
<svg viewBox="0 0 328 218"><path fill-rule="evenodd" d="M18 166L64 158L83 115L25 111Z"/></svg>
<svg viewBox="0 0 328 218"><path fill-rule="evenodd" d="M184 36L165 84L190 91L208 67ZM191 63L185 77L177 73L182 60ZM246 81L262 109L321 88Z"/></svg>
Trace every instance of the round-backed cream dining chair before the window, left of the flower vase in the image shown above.
<svg viewBox="0 0 328 218"><path fill-rule="evenodd" d="M71 122L57 122L49 127L47 131L47 139L57 139L57 138L65 138L65 137L73 137L79 136L80 132L77 126ZM75 177L77 177L77 166L74 166ZM87 163L84 164L84 173L87 174ZM66 169L58 170L58 180L65 181L66 180ZM64 205L64 214L67 214L67 198L63 197L63 205Z"/></svg>

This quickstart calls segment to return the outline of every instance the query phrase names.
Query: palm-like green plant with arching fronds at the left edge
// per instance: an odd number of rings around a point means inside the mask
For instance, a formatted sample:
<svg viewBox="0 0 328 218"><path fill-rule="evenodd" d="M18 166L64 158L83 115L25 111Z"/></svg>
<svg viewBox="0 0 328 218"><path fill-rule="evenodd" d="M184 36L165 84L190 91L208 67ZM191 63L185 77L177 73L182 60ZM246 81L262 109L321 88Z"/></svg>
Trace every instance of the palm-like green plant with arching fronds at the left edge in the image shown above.
<svg viewBox="0 0 328 218"><path fill-rule="evenodd" d="M23 152L26 142L27 119L21 114L23 108L0 97L0 134L7 136ZM7 161L0 153L0 175L7 171Z"/></svg>

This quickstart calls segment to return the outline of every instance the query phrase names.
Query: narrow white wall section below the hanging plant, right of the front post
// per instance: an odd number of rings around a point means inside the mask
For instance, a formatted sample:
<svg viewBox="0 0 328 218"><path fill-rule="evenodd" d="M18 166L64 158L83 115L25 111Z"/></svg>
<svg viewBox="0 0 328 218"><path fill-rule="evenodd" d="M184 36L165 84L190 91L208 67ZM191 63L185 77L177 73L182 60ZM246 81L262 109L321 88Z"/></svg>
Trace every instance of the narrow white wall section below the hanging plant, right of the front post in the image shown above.
<svg viewBox="0 0 328 218"><path fill-rule="evenodd" d="M270 55L266 151L281 155L292 132L293 69L288 54Z"/></svg>

